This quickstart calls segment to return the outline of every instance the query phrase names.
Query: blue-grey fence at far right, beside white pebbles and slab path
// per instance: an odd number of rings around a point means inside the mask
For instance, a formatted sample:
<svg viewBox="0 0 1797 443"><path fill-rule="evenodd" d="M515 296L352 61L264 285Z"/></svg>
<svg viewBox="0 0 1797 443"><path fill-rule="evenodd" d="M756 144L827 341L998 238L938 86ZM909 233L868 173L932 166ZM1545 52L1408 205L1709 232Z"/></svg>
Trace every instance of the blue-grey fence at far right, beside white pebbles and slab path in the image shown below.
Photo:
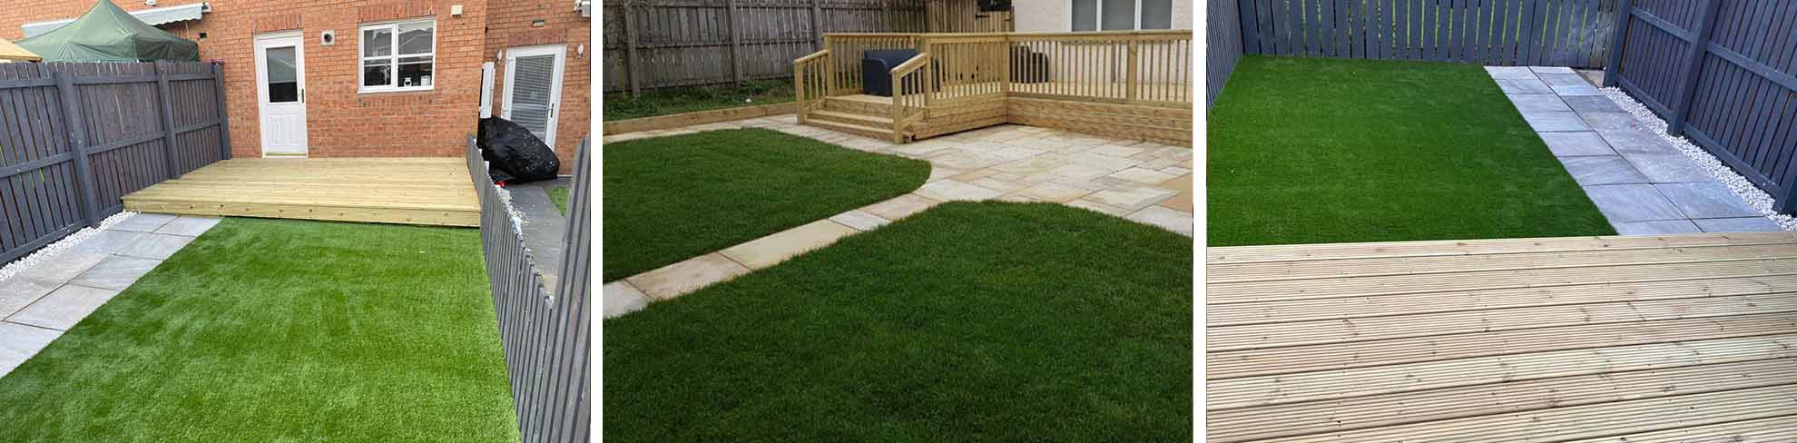
<svg viewBox="0 0 1797 443"><path fill-rule="evenodd" d="M1797 211L1797 2L1623 2L1605 85Z"/></svg>

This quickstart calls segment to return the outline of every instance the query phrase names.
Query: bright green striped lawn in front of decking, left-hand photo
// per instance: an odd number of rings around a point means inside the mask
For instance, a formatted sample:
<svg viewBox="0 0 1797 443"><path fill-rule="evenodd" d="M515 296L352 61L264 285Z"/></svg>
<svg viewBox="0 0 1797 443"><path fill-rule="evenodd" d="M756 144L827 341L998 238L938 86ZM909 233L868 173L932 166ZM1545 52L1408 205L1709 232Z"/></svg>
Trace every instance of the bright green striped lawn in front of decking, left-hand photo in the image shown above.
<svg viewBox="0 0 1797 443"><path fill-rule="evenodd" d="M226 218L0 378L0 441L518 441L473 229Z"/></svg>

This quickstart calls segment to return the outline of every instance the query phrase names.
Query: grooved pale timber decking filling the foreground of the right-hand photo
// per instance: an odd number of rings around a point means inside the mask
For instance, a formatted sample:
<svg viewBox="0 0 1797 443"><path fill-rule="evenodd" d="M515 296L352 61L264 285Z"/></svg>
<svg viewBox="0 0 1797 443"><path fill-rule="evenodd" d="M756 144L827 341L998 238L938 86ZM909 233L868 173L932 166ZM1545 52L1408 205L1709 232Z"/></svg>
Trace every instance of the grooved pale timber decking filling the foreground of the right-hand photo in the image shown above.
<svg viewBox="0 0 1797 443"><path fill-rule="evenodd" d="M1206 254L1209 441L1797 439L1793 232Z"/></svg>

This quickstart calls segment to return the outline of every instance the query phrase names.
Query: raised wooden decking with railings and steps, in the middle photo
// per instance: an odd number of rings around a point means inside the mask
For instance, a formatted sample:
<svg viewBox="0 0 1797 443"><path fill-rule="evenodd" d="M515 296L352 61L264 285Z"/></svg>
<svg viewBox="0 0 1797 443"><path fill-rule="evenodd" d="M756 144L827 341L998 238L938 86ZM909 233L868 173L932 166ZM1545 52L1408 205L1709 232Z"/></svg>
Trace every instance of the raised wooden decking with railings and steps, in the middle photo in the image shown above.
<svg viewBox="0 0 1797 443"><path fill-rule="evenodd" d="M792 61L803 124L907 142L1015 122L1191 142L1191 31L825 34ZM863 90L868 50L913 49Z"/></svg>

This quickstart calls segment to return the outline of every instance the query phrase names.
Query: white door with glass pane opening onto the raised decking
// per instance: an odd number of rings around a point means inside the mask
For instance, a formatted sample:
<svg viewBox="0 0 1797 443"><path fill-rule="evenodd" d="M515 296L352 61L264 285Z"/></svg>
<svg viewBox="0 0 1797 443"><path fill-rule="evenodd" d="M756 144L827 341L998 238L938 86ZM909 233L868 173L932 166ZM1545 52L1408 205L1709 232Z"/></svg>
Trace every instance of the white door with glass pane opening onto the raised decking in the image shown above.
<svg viewBox="0 0 1797 443"><path fill-rule="evenodd" d="M305 157L305 40L255 36L255 101L262 157Z"/></svg>

